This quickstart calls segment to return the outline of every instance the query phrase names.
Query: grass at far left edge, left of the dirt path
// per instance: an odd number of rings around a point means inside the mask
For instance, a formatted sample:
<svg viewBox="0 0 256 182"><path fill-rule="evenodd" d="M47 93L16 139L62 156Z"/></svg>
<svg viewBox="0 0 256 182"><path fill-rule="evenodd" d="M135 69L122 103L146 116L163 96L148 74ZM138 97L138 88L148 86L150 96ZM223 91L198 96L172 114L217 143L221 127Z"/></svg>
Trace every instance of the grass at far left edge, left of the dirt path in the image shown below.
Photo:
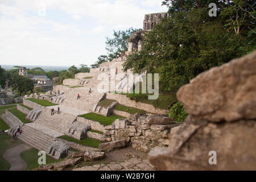
<svg viewBox="0 0 256 182"><path fill-rule="evenodd" d="M0 171L9 171L10 164L3 159L3 153L18 144L21 144L19 140L13 140L13 137L10 137L7 134L0 134Z"/></svg>

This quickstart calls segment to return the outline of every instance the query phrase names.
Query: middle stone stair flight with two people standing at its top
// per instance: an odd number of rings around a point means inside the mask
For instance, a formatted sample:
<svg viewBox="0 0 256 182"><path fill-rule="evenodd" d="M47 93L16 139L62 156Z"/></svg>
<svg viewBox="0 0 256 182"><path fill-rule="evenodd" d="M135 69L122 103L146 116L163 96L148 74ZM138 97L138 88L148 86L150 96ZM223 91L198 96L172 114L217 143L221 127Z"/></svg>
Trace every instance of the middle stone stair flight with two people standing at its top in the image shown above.
<svg viewBox="0 0 256 182"><path fill-rule="evenodd" d="M65 113L55 113L54 115L51 115L51 109L46 108L35 120L35 123L64 134L75 119L76 117L74 115Z"/></svg>

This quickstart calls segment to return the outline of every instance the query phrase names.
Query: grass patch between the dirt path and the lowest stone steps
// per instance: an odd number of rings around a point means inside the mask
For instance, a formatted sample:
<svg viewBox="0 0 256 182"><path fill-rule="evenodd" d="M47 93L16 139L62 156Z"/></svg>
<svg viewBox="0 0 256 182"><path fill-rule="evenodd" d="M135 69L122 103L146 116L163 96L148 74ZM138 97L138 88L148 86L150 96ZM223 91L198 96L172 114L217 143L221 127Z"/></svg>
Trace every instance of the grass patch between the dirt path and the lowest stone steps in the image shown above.
<svg viewBox="0 0 256 182"><path fill-rule="evenodd" d="M31 148L30 150L23 151L20 153L20 158L24 160L27 164L26 171L32 171L32 169L38 168L40 165L38 164L38 158L40 157L38 155L38 150L35 148ZM51 158L50 156L46 155L46 164L53 164L60 162L64 159L56 160Z"/></svg>

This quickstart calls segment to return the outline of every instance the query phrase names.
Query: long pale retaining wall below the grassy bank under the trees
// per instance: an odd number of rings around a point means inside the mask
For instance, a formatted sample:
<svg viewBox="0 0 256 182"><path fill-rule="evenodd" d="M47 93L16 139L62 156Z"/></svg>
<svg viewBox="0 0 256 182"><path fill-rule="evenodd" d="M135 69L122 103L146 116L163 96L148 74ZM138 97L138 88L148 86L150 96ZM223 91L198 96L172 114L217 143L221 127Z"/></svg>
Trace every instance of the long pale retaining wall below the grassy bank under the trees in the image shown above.
<svg viewBox="0 0 256 182"><path fill-rule="evenodd" d="M142 102L136 102L136 101L130 100L129 97L126 97L122 94L106 93L106 98L110 99L110 100L115 100L119 104L122 104L122 105L125 105L128 107L135 107L137 109L143 109L144 111L149 112L149 113L156 113L156 114L167 114L168 113L168 110L158 109L150 104L145 104Z"/></svg>

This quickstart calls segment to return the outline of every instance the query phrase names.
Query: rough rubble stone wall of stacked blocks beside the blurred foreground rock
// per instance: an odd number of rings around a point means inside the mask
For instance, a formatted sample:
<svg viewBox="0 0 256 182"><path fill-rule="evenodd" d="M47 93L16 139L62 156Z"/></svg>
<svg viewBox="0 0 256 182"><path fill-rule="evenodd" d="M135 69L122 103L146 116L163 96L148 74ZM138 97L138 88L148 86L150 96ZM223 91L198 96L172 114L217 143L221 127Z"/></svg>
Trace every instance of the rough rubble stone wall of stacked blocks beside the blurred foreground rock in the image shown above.
<svg viewBox="0 0 256 182"><path fill-rule="evenodd" d="M126 119L115 120L112 125L105 127L104 134L111 137L113 142L119 141L121 147L131 141L135 150L147 152L155 146L167 146L168 133L172 127L176 126L179 124L167 115L137 114ZM101 148L111 150L107 144L102 144Z"/></svg>

